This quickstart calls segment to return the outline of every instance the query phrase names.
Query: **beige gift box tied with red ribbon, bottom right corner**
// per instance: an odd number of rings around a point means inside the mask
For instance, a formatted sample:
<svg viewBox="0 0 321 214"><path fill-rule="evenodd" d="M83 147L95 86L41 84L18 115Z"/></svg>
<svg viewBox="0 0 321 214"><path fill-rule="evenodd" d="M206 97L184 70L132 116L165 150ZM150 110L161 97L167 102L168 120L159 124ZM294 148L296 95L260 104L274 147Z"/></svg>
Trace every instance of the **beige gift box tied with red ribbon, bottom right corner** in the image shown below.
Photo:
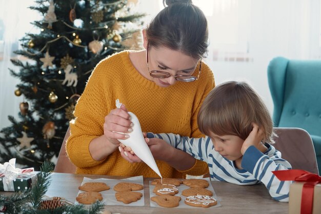
<svg viewBox="0 0 321 214"><path fill-rule="evenodd" d="M273 171L280 181L294 181L290 186L290 214L321 213L321 177L300 169Z"/></svg>

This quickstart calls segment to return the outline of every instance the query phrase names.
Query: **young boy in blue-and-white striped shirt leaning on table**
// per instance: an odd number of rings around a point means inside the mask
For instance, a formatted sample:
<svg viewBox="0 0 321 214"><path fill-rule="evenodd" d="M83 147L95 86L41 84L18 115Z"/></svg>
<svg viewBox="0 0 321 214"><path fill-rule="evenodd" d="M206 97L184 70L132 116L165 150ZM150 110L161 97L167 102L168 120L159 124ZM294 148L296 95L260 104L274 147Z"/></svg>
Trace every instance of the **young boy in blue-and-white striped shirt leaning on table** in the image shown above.
<svg viewBox="0 0 321 214"><path fill-rule="evenodd" d="M291 165L271 145L275 136L271 116L247 83L216 86L204 100L197 124L207 137L196 139L172 133L148 133L147 137L163 139L207 162L211 180L238 185L262 182L273 199L288 202L292 182L279 181L272 171L291 169ZM151 146L155 140L146 141Z"/></svg>

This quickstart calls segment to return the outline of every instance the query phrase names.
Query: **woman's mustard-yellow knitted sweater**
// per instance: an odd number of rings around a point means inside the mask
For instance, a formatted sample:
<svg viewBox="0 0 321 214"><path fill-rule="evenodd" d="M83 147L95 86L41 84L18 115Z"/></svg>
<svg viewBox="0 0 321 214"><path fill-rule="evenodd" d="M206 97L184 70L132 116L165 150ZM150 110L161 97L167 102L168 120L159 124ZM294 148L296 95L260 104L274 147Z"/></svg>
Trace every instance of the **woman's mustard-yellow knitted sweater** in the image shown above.
<svg viewBox="0 0 321 214"><path fill-rule="evenodd" d="M213 73L206 64L202 65L197 81L162 88L138 73L129 59L129 51L102 60L89 77L75 107L75 120L70 123L66 148L68 157L77 166L76 173L158 177L145 163L127 162L118 149L103 161L92 159L89 144L104 134L105 116L116 108L115 101L119 99L128 111L136 114L143 131L200 137L197 113L213 87ZM163 161L156 163L163 178L183 178L183 173L200 175L207 170L202 161L196 161L186 171L177 171Z"/></svg>

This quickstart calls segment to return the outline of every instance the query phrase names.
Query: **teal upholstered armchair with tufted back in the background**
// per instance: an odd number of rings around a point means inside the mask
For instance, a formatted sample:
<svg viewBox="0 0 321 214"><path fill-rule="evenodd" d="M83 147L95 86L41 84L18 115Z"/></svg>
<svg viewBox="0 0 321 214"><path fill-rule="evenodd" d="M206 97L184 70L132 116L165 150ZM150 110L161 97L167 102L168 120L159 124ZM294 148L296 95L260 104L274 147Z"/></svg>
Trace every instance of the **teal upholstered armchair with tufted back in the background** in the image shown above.
<svg viewBox="0 0 321 214"><path fill-rule="evenodd" d="M321 61L276 57L268 66L268 82L274 126L308 131L321 174Z"/></svg>

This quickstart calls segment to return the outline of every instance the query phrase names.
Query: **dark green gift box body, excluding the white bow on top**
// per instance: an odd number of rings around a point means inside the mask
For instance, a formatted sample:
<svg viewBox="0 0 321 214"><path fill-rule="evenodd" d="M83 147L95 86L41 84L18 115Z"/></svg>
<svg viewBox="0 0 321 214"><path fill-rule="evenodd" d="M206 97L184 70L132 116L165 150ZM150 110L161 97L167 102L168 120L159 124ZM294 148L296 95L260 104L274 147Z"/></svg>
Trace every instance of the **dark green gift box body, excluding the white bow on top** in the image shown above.
<svg viewBox="0 0 321 214"><path fill-rule="evenodd" d="M8 180L6 176L2 174L0 176L0 191L23 191L31 188L37 181L38 173L38 171L19 173L13 180Z"/></svg>

